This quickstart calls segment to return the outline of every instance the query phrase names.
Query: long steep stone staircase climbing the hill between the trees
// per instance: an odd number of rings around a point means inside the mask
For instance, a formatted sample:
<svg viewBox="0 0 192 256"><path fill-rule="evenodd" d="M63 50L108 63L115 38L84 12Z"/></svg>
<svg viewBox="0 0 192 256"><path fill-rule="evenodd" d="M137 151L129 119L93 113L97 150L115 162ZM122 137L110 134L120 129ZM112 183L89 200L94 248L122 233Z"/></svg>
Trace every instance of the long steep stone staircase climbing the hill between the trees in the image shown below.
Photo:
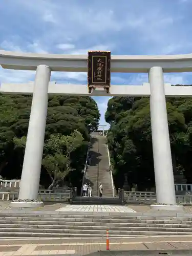
<svg viewBox="0 0 192 256"><path fill-rule="evenodd" d="M112 182L109 172L109 158L106 137L92 134L90 148L91 163L88 165L85 182L92 184L93 197L98 196L98 184L103 186L103 197L112 197Z"/></svg>

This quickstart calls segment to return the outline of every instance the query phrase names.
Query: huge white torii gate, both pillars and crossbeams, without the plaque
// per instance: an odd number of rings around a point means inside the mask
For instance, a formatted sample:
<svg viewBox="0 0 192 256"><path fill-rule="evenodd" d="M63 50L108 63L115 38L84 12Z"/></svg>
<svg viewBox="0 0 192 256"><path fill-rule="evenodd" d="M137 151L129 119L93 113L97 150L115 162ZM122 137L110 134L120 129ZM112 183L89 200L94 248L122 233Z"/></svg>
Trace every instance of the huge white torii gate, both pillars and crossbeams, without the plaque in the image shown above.
<svg viewBox="0 0 192 256"><path fill-rule="evenodd" d="M172 87L164 84L163 72L191 72L192 54L158 56L112 56L111 72L148 73L149 83L140 86L111 86L110 93L102 88L91 94L86 85L50 82L51 71L88 72L87 55L14 53L0 50L0 64L4 69L36 70L35 81L2 83L1 93L33 94L31 114L20 182L18 207L37 207L38 187L44 147L48 95L89 96L150 96L151 126L157 209L177 209L172 156L168 133L165 97L191 97L192 87ZM34 202L27 202L33 199ZM165 205L163 205L165 204Z"/></svg>

